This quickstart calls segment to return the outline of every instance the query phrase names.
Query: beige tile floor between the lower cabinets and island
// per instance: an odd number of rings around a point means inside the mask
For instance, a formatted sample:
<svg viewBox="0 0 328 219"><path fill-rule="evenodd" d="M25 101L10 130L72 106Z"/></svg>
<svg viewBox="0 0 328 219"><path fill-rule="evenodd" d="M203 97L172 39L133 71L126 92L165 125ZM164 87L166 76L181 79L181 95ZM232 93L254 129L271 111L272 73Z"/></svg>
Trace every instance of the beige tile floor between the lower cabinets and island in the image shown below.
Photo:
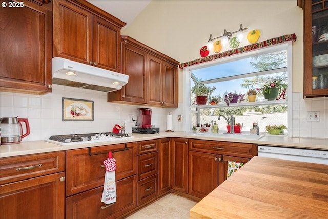
<svg viewBox="0 0 328 219"><path fill-rule="evenodd" d="M196 204L188 198L170 193L126 219L188 219L190 209Z"/></svg>

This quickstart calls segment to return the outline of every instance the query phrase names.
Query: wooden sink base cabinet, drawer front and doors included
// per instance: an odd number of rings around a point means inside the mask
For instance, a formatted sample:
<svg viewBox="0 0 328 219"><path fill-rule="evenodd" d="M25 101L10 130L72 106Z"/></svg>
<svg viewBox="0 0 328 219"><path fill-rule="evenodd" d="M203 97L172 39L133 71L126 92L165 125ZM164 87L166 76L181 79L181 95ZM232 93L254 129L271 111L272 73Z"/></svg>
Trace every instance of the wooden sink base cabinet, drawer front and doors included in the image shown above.
<svg viewBox="0 0 328 219"><path fill-rule="evenodd" d="M189 140L188 193L203 198L227 179L228 161L247 163L255 144Z"/></svg>

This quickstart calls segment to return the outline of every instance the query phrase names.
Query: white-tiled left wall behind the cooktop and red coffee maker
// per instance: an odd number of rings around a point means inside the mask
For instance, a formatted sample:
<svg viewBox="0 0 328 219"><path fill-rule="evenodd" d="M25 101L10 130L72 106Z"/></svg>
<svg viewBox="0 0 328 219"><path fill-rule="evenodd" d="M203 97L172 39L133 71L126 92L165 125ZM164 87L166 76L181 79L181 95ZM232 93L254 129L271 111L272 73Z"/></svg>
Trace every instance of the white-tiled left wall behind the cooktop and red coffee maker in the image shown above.
<svg viewBox="0 0 328 219"><path fill-rule="evenodd" d="M61 121L61 98L94 101L94 121ZM88 89L53 85L52 93L45 95L0 92L0 117L28 118L30 135L24 141L44 140L51 135L111 132L115 124L126 122L126 133L132 132L134 123L130 115L137 115L137 108L126 104L107 103L107 93ZM146 106L147 107L147 106ZM165 109L152 109L152 124L165 130Z"/></svg>

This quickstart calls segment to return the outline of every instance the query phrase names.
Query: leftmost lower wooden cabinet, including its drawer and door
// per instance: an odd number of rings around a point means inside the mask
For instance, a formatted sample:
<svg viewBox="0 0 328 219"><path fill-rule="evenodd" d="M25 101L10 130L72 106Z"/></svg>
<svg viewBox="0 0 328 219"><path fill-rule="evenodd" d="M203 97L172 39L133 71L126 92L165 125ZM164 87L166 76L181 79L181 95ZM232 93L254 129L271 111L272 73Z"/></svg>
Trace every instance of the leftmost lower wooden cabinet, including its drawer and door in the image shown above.
<svg viewBox="0 0 328 219"><path fill-rule="evenodd" d="M0 159L0 218L65 218L65 151Z"/></svg>

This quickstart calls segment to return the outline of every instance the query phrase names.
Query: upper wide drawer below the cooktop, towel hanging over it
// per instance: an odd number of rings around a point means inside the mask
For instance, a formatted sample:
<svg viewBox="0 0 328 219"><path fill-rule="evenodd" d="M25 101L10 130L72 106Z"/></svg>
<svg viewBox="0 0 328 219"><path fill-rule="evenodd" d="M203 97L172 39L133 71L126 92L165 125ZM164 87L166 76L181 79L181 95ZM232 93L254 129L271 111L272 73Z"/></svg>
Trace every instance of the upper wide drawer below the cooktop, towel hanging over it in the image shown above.
<svg viewBox="0 0 328 219"><path fill-rule="evenodd" d="M136 143L98 146L66 152L66 196L104 185L103 161L108 152L116 160L116 181L137 174Z"/></svg>

